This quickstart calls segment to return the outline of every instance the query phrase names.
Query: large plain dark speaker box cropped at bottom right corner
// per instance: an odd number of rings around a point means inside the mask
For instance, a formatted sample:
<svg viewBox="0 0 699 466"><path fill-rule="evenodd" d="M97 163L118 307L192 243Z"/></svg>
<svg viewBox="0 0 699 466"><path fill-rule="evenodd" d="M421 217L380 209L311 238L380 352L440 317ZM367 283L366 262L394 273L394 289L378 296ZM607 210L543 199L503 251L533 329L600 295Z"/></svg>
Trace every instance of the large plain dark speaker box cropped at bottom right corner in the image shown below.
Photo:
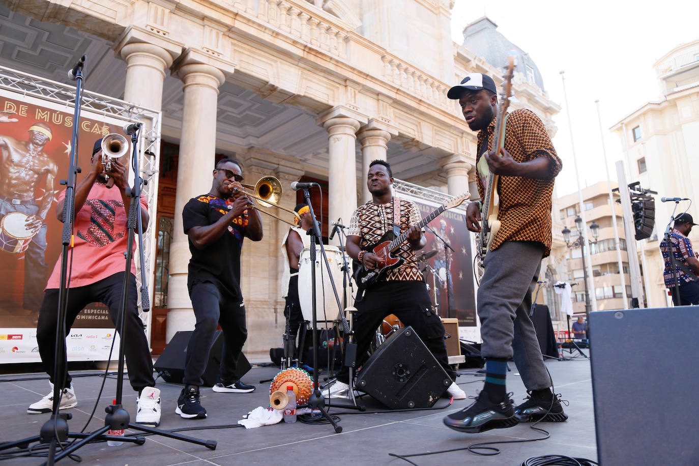
<svg viewBox="0 0 699 466"><path fill-rule="evenodd" d="M598 463L699 465L696 306L590 312Z"/></svg>

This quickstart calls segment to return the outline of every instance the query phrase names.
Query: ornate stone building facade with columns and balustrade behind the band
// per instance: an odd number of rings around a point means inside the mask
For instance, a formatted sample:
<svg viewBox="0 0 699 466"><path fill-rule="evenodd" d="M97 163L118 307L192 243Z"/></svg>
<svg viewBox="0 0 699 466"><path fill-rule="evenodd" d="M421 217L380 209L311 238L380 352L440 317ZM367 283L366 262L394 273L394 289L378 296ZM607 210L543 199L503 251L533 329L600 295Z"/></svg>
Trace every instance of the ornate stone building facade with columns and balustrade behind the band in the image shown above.
<svg viewBox="0 0 699 466"><path fill-rule="evenodd" d="M274 175L324 185L319 210L348 221L369 197L369 161L449 194L475 182L475 134L447 89L468 72L501 81L452 42L449 0L6 1L0 64L59 82L87 55L85 87L162 112L152 342L190 330L189 249L182 207L210 189L215 160L243 163L245 182ZM503 62L504 64L504 62ZM555 132L559 107L526 73L520 103ZM284 191L280 203L296 204ZM280 346L280 243L287 226L263 216L265 238L243 247L247 352ZM324 234L329 233L324 228ZM463 232L464 235L468 234ZM562 239L559 234L557 237ZM157 327L159 326L159 330ZM155 346L153 344L153 346Z"/></svg>

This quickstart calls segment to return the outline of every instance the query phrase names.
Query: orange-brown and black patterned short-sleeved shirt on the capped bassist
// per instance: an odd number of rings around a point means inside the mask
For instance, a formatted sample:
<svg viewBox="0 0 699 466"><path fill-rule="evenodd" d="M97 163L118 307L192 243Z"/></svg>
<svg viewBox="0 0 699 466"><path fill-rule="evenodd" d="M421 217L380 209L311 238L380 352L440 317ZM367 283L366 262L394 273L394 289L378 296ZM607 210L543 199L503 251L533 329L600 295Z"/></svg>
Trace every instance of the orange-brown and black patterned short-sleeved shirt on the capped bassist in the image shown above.
<svg viewBox="0 0 699 466"><path fill-rule="evenodd" d="M487 147L493 146L495 123L478 132L478 154L476 163ZM505 150L518 163L528 162L540 156L551 160L550 177L535 180L527 177L500 176L498 196L500 196L500 213L502 222L500 231L493 240L492 249L498 248L505 241L537 241L545 246L544 257L551 253L551 195L554 190L554 178L559 174L563 163L556 154L548 133L541 119L531 110L520 108L507 115L505 125ZM478 193L483 198L483 180L477 177Z"/></svg>

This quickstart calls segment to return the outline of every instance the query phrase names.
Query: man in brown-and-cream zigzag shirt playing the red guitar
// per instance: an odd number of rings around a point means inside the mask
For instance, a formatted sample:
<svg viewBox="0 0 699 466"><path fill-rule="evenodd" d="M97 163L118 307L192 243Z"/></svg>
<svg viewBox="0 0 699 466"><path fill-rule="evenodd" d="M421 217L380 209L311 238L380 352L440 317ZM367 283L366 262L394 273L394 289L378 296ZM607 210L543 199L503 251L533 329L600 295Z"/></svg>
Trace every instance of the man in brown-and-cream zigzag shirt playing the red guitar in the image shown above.
<svg viewBox="0 0 699 466"><path fill-rule="evenodd" d="M417 228L417 223L421 220L420 211L415 203L398 200L392 195L393 173L387 161L375 160L369 164L366 184L372 200L358 207L352 214L347 231L347 254L356 261L361 259L364 267L369 270L376 268L380 258L370 252L363 252L361 248L375 244L384 233L393 229L396 201L400 203L400 233L408 230L410 233L408 240L397 251L405 259L403 264L389 270L354 303L357 310L353 322L356 367L366 362L369 344L384 318L396 314L405 326L415 329L438 363L454 380L456 373L449 366L444 326L435 312L417 268L415 251L422 249L426 243L424 234ZM323 395L326 398L342 396L347 395L348 391L349 370L343 367L335 384L327 388ZM456 382L449 386L447 393L456 400L466 398L466 393L463 393Z"/></svg>

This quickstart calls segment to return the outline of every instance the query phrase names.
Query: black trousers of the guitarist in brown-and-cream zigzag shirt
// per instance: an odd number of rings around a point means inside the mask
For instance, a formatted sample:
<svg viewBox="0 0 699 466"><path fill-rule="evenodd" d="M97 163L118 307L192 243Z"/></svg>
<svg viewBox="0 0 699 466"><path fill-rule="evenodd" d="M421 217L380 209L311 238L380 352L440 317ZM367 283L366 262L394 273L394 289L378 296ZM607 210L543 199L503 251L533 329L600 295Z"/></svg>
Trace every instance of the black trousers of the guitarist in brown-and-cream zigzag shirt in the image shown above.
<svg viewBox="0 0 699 466"><path fill-rule="evenodd" d="M456 380L456 372L449 365L444 326L435 313L424 282L378 282L364 293L361 301L354 302L354 307L357 310L352 326L356 342L356 367L368 359L367 351L378 326L386 316L396 314L403 325L412 326L449 377ZM347 367L343 367L338 374L338 380L349 383Z"/></svg>

